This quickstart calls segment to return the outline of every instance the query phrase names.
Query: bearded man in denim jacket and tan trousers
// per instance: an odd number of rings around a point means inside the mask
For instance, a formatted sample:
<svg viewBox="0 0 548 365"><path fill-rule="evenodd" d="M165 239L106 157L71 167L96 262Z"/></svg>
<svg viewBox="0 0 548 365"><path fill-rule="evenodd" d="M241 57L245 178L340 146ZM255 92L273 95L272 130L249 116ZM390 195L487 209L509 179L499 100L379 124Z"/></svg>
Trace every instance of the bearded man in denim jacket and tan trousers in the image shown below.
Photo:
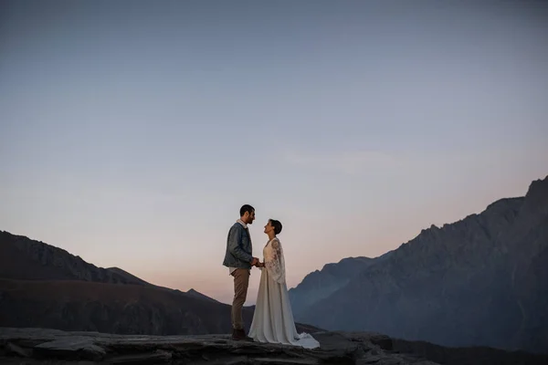
<svg viewBox="0 0 548 365"><path fill-rule="evenodd" d="M232 339L253 340L246 335L244 321L242 319L242 308L248 297L249 275L251 266L258 264L258 258L253 257L251 246L251 235L249 235L248 224L255 220L255 208L244 204L240 208L240 218L236 221L227 237L227 253L223 265L228 267L228 273L234 276L234 300L232 301Z"/></svg>

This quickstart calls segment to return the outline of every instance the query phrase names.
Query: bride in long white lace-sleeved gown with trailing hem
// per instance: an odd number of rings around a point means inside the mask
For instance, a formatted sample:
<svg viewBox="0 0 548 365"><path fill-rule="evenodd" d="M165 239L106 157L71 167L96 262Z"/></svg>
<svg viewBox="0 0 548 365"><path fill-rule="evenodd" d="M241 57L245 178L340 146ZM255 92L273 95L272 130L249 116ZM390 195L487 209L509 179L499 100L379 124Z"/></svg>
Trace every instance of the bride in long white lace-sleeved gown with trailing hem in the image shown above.
<svg viewBox="0 0 548 365"><path fill-rule="evenodd" d="M320 347L320 343L308 333L297 333L285 281L283 249L276 235L281 223L269 219L265 234L269 242L263 249L264 261L257 266L261 270L257 305L249 329L249 337L258 342L281 343L306 349Z"/></svg>

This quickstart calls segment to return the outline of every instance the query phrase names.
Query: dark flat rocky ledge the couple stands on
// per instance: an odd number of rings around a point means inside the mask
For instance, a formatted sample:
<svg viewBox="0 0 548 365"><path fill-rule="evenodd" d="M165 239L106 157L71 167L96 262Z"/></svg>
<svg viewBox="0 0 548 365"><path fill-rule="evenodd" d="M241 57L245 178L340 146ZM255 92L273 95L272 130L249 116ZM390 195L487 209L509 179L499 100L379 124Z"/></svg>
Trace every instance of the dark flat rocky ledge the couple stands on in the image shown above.
<svg viewBox="0 0 548 365"><path fill-rule="evenodd" d="M2 364L420 364L374 333L316 332L320 349L232 341L227 335L141 336L0 328Z"/></svg>

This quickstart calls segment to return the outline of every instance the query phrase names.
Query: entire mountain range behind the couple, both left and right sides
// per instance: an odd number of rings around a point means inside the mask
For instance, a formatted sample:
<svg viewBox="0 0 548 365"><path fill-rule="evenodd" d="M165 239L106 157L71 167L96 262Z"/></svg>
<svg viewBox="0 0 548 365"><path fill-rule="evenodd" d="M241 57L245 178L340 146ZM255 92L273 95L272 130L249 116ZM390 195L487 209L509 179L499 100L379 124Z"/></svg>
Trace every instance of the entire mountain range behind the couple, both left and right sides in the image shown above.
<svg viewBox="0 0 548 365"><path fill-rule="evenodd" d="M290 289L299 331L384 333L547 352L548 176L521 197L430 226L393 251L327 264ZM249 326L254 307L244 308ZM302 323L308 323L304 325ZM0 231L0 327L229 333L230 306Z"/></svg>

